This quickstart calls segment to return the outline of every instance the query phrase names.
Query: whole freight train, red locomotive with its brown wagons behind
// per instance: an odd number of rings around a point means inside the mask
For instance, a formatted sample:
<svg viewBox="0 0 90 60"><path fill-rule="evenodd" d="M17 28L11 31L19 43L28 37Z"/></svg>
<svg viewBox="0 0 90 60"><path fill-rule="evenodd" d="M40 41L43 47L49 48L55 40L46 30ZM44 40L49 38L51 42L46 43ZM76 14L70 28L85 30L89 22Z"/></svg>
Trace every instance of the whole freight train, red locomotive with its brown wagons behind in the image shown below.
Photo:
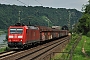
<svg viewBox="0 0 90 60"><path fill-rule="evenodd" d="M17 23L8 28L8 46L25 48L28 45L67 36L68 30L60 30L45 26L28 26Z"/></svg>

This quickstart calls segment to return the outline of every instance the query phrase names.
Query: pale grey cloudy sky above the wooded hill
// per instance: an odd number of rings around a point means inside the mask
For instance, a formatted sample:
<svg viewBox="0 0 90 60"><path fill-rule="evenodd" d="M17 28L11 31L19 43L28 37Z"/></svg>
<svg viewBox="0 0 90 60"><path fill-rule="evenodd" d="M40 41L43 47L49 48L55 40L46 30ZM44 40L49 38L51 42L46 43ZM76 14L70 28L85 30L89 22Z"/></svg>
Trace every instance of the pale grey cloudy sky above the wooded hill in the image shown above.
<svg viewBox="0 0 90 60"><path fill-rule="evenodd" d="M1 4L15 4L25 6L44 6L52 8L77 9L81 11L88 0L0 0Z"/></svg>

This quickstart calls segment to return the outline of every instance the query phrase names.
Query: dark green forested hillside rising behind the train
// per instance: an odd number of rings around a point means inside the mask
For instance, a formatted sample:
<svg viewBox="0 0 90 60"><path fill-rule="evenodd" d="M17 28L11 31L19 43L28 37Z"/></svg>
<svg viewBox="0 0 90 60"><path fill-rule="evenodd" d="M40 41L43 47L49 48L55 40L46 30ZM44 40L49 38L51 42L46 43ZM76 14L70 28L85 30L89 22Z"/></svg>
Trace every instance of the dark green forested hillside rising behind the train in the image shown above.
<svg viewBox="0 0 90 60"><path fill-rule="evenodd" d="M43 6L16 6L0 4L0 29L7 29L17 22L31 25L73 25L82 16L76 9L50 8Z"/></svg>

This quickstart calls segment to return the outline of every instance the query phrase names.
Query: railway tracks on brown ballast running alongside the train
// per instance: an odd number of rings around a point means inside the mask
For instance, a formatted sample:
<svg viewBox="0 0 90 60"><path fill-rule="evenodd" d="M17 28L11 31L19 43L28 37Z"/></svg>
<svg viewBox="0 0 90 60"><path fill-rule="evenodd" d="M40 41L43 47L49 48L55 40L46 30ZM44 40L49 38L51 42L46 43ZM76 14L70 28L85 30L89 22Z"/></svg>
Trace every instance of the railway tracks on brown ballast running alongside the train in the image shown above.
<svg viewBox="0 0 90 60"><path fill-rule="evenodd" d="M9 52L8 54L1 55L0 60L42 60L43 57L53 52L57 46L63 46L68 42L69 37L61 38L43 45L39 45L28 50L19 52ZM62 49L62 48L61 48Z"/></svg>

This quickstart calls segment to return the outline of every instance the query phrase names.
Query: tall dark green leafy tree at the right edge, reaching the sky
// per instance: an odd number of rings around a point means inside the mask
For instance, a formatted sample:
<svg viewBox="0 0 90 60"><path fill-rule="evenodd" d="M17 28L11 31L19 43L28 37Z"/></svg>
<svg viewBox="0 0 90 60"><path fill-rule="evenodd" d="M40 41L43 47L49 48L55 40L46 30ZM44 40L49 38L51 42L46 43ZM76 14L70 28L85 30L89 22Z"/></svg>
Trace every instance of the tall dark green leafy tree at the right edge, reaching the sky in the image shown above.
<svg viewBox="0 0 90 60"><path fill-rule="evenodd" d="M90 0L88 2L89 4L85 5L85 12L78 24L78 31L85 35L90 31Z"/></svg>

